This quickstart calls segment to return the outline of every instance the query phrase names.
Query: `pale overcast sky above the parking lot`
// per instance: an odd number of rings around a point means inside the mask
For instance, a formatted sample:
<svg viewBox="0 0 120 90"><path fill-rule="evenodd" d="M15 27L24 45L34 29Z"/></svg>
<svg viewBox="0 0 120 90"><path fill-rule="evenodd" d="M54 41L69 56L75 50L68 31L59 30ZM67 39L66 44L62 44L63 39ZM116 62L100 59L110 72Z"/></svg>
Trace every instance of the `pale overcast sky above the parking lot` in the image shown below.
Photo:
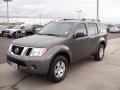
<svg viewBox="0 0 120 90"><path fill-rule="evenodd" d="M12 0L10 16L36 16L43 18L96 18L97 0ZM0 15L6 15L6 3L0 0ZM120 0L100 0L100 19L120 23Z"/></svg>

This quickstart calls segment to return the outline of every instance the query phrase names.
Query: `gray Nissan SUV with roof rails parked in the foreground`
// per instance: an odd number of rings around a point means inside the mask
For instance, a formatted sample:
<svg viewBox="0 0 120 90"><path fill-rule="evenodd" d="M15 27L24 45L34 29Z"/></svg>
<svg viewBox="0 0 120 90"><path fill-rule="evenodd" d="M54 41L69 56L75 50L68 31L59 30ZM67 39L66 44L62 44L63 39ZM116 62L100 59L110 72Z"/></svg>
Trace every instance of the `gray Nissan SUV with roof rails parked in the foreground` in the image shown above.
<svg viewBox="0 0 120 90"><path fill-rule="evenodd" d="M63 80L71 63L87 56L101 61L107 45L104 24L98 21L52 22L33 36L14 40L7 62L17 70L45 74L48 80Z"/></svg>

